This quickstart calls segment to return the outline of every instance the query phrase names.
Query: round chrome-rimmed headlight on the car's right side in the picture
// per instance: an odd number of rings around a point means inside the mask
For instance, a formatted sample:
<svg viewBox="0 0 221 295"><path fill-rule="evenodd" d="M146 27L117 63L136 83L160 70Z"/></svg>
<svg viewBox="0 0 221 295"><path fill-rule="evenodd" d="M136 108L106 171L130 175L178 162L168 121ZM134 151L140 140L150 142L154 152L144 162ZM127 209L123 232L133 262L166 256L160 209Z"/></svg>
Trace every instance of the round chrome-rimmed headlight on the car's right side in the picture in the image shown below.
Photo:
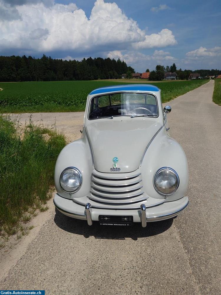
<svg viewBox="0 0 221 295"><path fill-rule="evenodd" d="M171 195L179 186L179 177L176 171L163 167L156 171L154 176L154 187L159 194Z"/></svg>

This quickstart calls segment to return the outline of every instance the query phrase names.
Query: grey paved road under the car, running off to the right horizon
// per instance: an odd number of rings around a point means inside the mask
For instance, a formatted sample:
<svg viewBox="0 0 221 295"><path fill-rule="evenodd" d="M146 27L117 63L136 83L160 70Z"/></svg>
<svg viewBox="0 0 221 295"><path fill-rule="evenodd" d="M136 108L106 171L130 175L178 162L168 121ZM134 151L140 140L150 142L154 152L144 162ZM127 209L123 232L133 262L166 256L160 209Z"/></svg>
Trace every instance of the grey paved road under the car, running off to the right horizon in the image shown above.
<svg viewBox="0 0 221 295"><path fill-rule="evenodd" d="M146 229L102 228L52 209L0 289L221 294L221 107L212 102L213 83L169 103L171 136L189 163L190 205L180 217Z"/></svg>

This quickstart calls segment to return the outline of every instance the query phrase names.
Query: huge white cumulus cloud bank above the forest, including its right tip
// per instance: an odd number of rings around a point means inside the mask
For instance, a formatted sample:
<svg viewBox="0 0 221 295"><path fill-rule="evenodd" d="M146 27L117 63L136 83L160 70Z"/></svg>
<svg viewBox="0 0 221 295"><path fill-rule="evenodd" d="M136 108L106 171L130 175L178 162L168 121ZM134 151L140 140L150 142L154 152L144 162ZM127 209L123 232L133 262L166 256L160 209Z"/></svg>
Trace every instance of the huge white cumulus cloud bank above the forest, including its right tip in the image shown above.
<svg viewBox="0 0 221 295"><path fill-rule="evenodd" d="M89 19L76 4L53 0L0 0L1 50L65 51L66 55L177 44L168 29L145 35L116 3L97 0Z"/></svg>

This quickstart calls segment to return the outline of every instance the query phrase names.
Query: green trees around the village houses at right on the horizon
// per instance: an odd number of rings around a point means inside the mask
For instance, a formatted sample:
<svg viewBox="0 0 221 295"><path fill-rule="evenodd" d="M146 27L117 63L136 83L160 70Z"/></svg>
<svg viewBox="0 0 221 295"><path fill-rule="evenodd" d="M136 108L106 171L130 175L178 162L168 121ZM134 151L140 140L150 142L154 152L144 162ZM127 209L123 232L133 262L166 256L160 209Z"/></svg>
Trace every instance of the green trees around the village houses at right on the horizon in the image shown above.
<svg viewBox="0 0 221 295"><path fill-rule="evenodd" d="M171 73L177 73L177 78L179 80L188 80L189 75L192 73L198 73L202 78L205 78L206 76L218 76L221 73L221 70L217 69L212 69L212 70L184 70L182 69L177 70L177 66L174 63L169 67L167 65L164 67L163 65L156 65L156 70L150 72L149 80L150 81L161 81L164 79L164 74L166 72L171 72Z"/></svg>

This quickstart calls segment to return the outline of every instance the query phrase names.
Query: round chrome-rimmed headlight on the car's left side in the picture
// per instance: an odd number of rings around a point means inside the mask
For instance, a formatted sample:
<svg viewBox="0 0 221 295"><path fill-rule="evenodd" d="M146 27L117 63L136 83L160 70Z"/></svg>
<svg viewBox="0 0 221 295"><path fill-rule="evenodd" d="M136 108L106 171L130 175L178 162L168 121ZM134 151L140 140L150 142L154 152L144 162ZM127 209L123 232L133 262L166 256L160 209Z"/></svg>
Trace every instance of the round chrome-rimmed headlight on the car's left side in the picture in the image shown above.
<svg viewBox="0 0 221 295"><path fill-rule="evenodd" d="M82 176L80 171L75 167L68 167L62 171L60 176L60 185L68 193L76 192L80 189Z"/></svg>

